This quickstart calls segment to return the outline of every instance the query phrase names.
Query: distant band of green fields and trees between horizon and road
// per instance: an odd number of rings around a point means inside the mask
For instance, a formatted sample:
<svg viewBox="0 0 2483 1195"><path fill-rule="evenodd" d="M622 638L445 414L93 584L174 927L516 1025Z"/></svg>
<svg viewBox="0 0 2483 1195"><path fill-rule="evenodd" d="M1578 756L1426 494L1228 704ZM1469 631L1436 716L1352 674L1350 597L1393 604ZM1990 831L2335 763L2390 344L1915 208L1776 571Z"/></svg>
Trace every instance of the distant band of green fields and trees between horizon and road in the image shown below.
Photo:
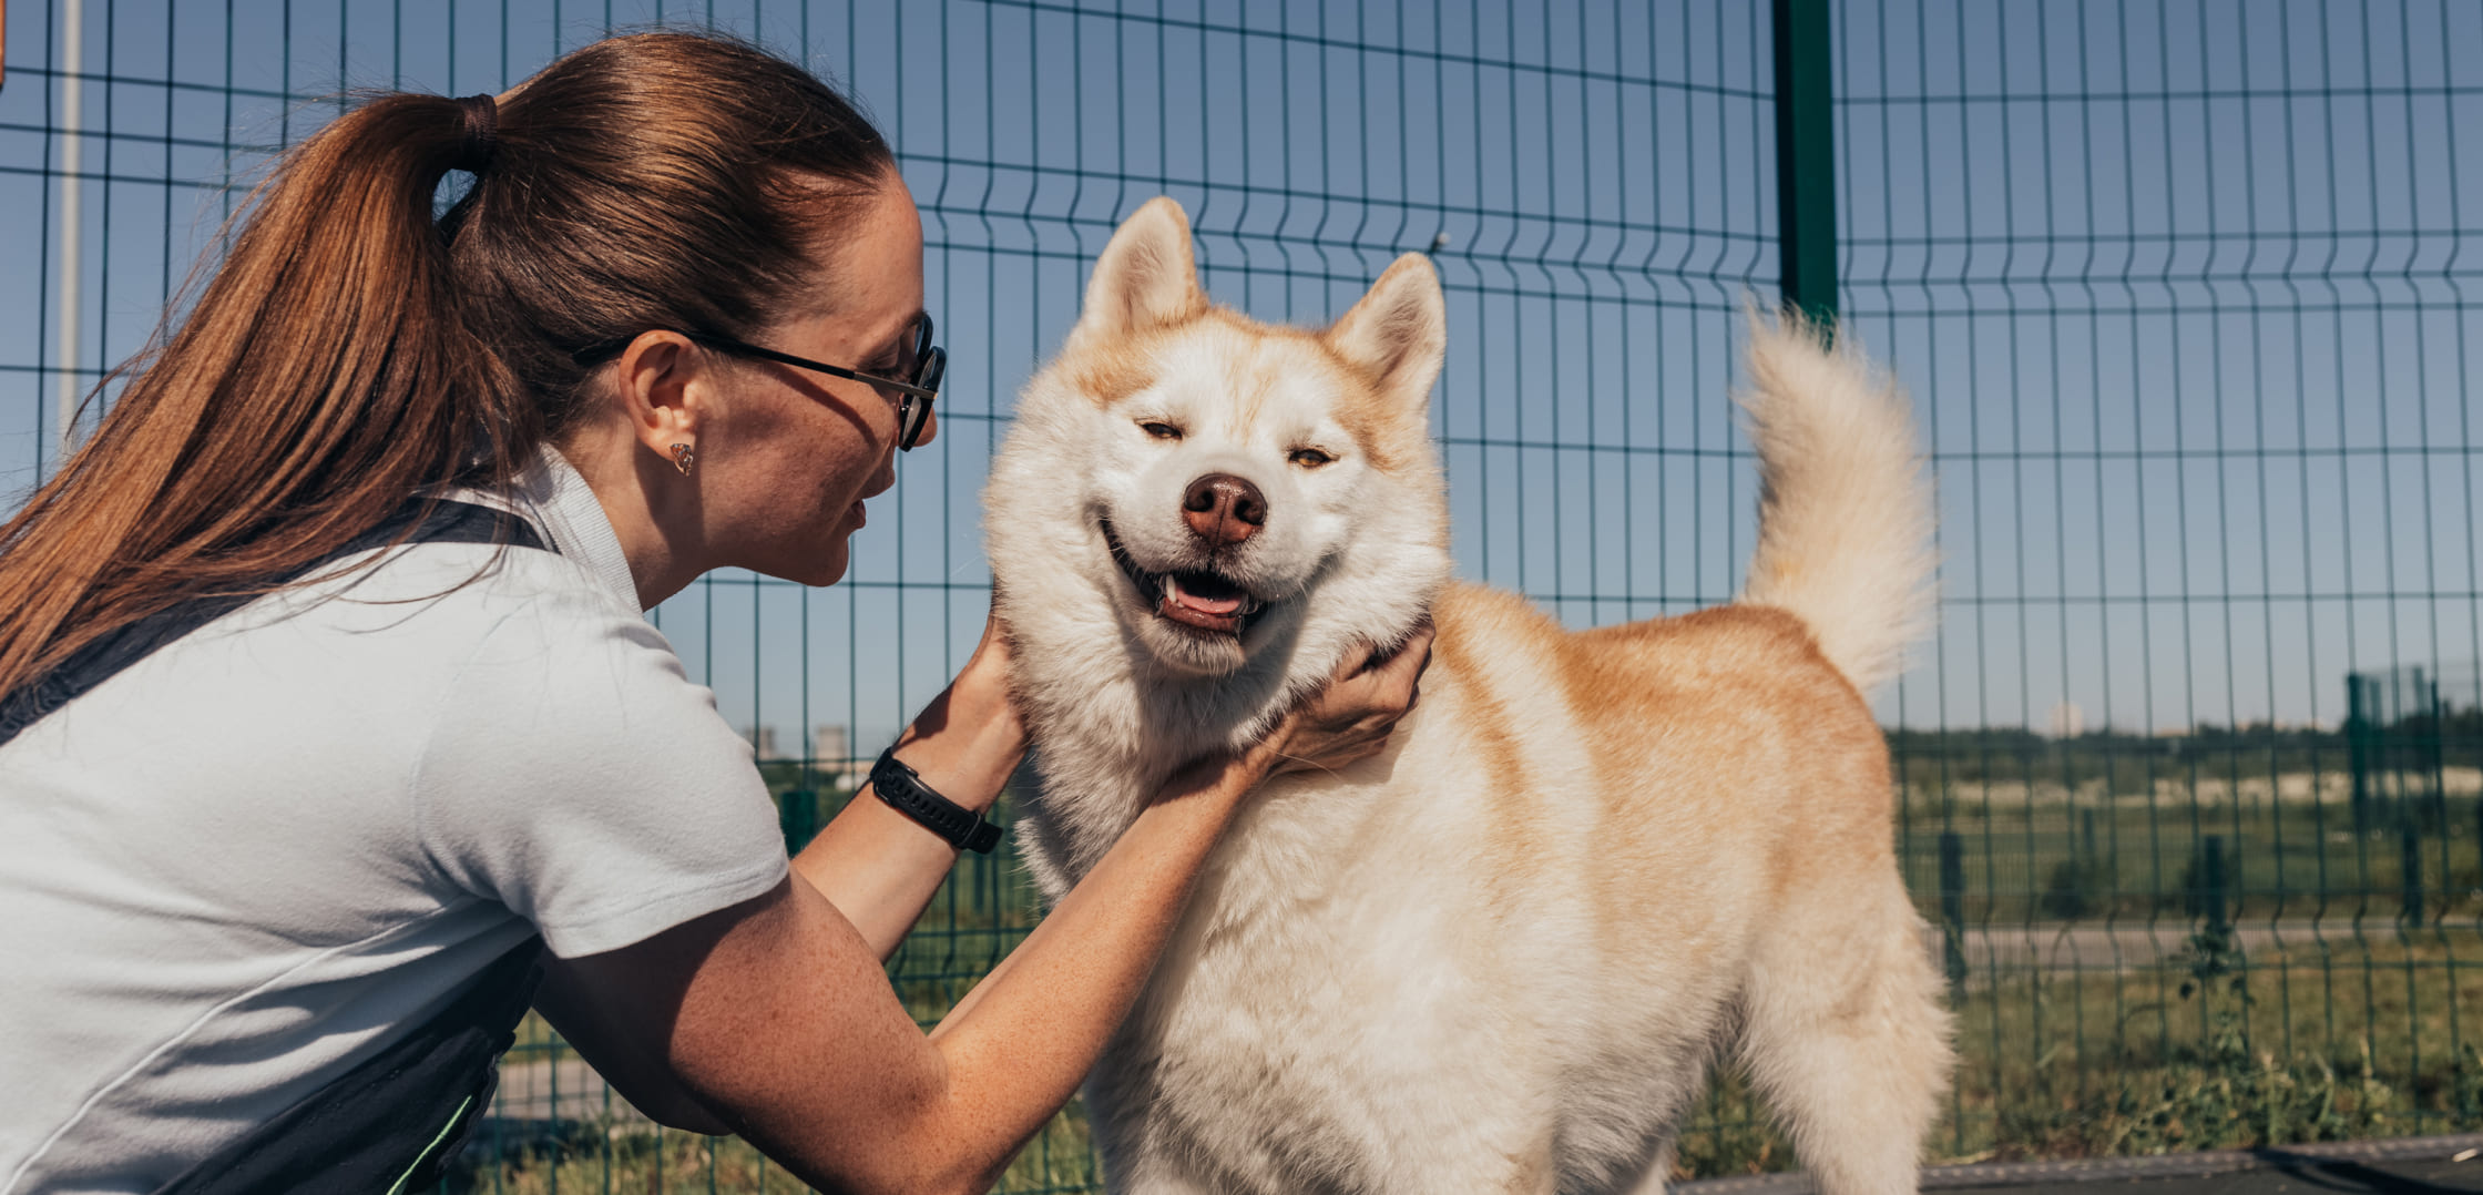
<svg viewBox="0 0 2483 1195"><path fill-rule="evenodd" d="M2386 929L2483 912L2483 711L2344 730L1892 730L1897 852L1962 927L2212 914Z"/></svg>

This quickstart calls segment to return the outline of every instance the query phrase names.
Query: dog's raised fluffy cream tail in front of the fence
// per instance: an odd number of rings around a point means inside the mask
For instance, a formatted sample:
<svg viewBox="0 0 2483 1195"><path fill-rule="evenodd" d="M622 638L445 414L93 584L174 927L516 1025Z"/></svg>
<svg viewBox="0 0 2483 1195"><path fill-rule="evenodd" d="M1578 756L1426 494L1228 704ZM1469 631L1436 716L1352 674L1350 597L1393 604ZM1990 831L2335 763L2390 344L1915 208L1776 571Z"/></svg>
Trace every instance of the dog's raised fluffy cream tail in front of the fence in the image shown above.
<svg viewBox="0 0 2483 1195"><path fill-rule="evenodd" d="M1798 316L1751 318L1758 552L1741 601L1810 624L1860 691L1902 671L1934 609L1932 479L1895 378Z"/></svg>

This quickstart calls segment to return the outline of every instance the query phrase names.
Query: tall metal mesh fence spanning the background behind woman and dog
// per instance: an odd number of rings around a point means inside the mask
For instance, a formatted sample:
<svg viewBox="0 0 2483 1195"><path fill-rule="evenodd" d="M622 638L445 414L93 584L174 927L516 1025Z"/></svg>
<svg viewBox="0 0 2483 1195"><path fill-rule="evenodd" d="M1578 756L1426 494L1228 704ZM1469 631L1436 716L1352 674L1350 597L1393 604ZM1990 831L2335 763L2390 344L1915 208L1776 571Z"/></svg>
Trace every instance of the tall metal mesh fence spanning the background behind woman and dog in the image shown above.
<svg viewBox="0 0 2483 1195"><path fill-rule="evenodd" d="M142 348L236 184L350 87L499 89L646 22L867 104L956 353L847 581L718 574L656 611L792 840L963 663L988 455L1147 196L1261 318L1326 320L1433 253L1460 571L1572 626L1733 594L1741 303L1778 293L1780 216L1827 211L1827 296L1914 393L1942 489L1944 629L1877 701L1959 1009L1934 1150L2483 1115L2483 713L2441 681L2483 658L2476 10L1837 5L1803 60L1832 179L1788 179L1785 211L1768 5L7 0L0 484L47 475L62 388ZM1033 919L1011 860L966 860L891 976L931 1021ZM531 1026L469 1158L482 1190L795 1188L653 1130ZM1788 1150L1723 1076L1683 1163ZM1097 1188L1073 1108L1001 1190Z"/></svg>

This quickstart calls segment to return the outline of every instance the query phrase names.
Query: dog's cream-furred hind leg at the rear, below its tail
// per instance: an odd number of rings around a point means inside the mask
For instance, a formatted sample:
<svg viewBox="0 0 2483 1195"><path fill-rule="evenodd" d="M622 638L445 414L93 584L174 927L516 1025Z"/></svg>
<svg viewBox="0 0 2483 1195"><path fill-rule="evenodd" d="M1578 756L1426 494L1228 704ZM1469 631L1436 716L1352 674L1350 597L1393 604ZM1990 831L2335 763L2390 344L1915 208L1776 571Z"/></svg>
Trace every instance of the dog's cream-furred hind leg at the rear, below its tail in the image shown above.
<svg viewBox="0 0 2483 1195"><path fill-rule="evenodd" d="M1823 1195L1917 1190L1949 1081L1939 976L1895 877L1788 909L1751 971L1743 1058Z"/></svg>

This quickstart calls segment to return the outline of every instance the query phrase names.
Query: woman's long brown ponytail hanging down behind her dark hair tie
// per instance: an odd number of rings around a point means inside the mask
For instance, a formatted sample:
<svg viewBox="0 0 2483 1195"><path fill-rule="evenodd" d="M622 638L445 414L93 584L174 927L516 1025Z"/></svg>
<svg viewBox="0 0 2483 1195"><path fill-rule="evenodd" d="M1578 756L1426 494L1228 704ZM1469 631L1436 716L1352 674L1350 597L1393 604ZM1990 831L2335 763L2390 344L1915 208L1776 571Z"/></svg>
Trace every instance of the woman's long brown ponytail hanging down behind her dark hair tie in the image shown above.
<svg viewBox="0 0 2483 1195"><path fill-rule="evenodd" d="M509 380L459 318L432 221L464 127L454 99L392 94L278 161L181 328L0 527L0 693L102 629L318 559L469 472L469 450L509 447L489 435Z"/></svg>

